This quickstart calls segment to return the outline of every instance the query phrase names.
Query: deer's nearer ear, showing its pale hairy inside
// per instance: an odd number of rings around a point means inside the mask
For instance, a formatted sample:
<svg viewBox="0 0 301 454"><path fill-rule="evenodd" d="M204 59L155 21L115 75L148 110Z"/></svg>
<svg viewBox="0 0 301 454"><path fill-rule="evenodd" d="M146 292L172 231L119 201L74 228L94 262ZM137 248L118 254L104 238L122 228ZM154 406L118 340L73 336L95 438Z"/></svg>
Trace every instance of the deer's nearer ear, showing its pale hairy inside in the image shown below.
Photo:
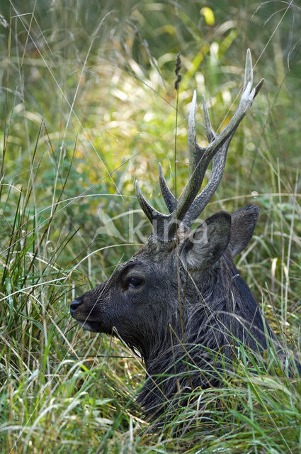
<svg viewBox="0 0 301 454"><path fill-rule="evenodd" d="M181 253L189 268L205 270L217 262L227 248L231 233L231 214L221 211L208 218L191 233Z"/></svg>

